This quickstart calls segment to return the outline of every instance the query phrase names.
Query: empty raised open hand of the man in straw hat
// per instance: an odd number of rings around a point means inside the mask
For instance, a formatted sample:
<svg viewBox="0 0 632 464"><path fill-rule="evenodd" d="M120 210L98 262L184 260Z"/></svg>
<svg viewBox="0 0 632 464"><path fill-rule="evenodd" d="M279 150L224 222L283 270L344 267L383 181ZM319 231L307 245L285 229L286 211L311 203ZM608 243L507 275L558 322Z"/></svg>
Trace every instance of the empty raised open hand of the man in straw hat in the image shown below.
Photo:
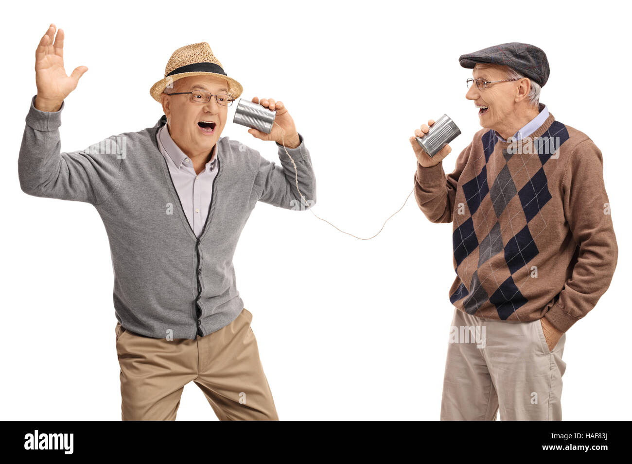
<svg viewBox="0 0 632 464"><path fill-rule="evenodd" d="M55 37L56 29L55 25L51 24L35 51L37 97L34 105L40 111L58 111L64 98L75 90L79 78L88 70L86 66L78 66L70 76L66 74L64 31L59 29Z"/></svg>

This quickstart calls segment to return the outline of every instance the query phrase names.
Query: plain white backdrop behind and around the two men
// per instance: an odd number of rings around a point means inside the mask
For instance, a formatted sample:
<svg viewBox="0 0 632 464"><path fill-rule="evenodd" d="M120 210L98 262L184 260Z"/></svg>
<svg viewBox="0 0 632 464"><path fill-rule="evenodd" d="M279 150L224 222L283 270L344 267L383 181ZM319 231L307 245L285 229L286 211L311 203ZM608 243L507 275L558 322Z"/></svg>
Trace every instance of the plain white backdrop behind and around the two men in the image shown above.
<svg viewBox="0 0 632 464"><path fill-rule="evenodd" d="M36 198L18 183L34 52L50 23L64 29L68 73L89 70L66 98L64 152L154 126L149 96L171 53L209 42L243 97L283 100L317 175L313 211L369 237L413 188L408 142L449 114L478 126L458 57L528 42L549 57L540 101L604 155L619 244L610 289L567 333L564 419L627 419L629 402L630 66L627 14L616 3L191 2L9 3L1 32L4 169L3 419L121 419L107 235L88 203ZM232 121L234 107L229 109ZM230 122L222 136L277 161ZM626 206L628 205L628 206ZM411 196L384 231L360 241L309 211L259 203L234 258L237 288L279 417L439 419L454 279L451 224ZM186 386L178 420L216 420Z"/></svg>

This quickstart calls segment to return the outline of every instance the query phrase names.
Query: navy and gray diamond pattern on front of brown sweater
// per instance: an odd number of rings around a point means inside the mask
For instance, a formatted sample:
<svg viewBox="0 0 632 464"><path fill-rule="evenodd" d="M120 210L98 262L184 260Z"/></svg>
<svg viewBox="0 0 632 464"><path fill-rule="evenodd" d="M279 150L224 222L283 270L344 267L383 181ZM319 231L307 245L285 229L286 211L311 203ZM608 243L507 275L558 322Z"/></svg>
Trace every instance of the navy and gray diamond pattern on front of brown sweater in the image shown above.
<svg viewBox="0 0 632 464"><path fill-rule="evenodd" d="M494 164L488 165L488 162L492 153L494 153L498 138L493 130L483 134L481 141L483 153L485 154L485 164L478 175L462 185L463 196L468 205L470 218L461 222L453 233L457 274L464 276L463 278L465 279L468 279L467 276L471 275L471 281L469 289L463 282L459 283L458 289L450 296L450 301L456 304L459 300L465 299L463 300L463 309L468 314L475 314L489 300L495 306L499 318L506 320L526 303L527 300L520 292L520 289L518 289L513 276L517 271L525 267L528 273L528 264L539 253L532 234L535 234L535 236L540 234L546 227L546 223L544 223L542 218L533 222L532 220L538 216L543 206L552 199L552 194L548 187L548 179L544 171L544 164L551 159L551 156L559 150L559 147L568 138L569 134L566 126L554 121L548 131L533 141L533 149L536 150L534 153L516 153L515 150L509 153L506 148L503 149L502 157L495 158L495 163L501 163L497 169L501 169L501 165L502 169L492 182L492 179L488 179L488 176L492 175L493 177L496 170L490 172L490 167L493 167ZM539 164L537 163L538 159L540 160ZM536 166L533 165L533 160L535 160ZM538 165L540 166L539 168ZM514 179L512 172L520 174ZM525 179L526 183L523 184ZM488 195L489 199L486 198ZM507 208L510 203L511 206ZM489 211L487 211L488 208ZM494 218L492 210L495 213L495 217L499 220ZM503 213L504 216L501 220ZM472 220L473 216L477 218L476 227ZM483 222L490 219L495 221L492 229L489 229L489 226L485 227ZM531 225L535 229L530 229L530 222L532 222ZM537 224L535 224L536 222ZM515 232L516 230L518 232ZM534 230L535 232L533 232ZM485 232L487 232L487 235L483 239L478 239ZM504 241L502 238L503 234L505 234ZM509 236L511 238L507 240ZM475 255L471 256L470 260L461 266L462 269L459 269L459 265L468 256L476 253L477 248L478 259ZM502 256L500 259L504 261L504 265L499 264L499 258L490 261L498 255ZM473 267L473 263L470 261L478 263L477 270L474 270L473 273L471 273L471 268L468 270L468 267ZM485 280L487 280L487 283L485 281L480 282L478 269L483 265L487 265L488 261L490 261L489 266L495 267L491 275L489 275L489 272L486 272L487 277ZM523 273L520 273L520 275L522 276ZM493 282L494 280L496 282ZM492 287L498 285L498 281L502 281L502 283L495 290L492 290ZM488 297L489 294L491 294L490 297Z"/></svg>

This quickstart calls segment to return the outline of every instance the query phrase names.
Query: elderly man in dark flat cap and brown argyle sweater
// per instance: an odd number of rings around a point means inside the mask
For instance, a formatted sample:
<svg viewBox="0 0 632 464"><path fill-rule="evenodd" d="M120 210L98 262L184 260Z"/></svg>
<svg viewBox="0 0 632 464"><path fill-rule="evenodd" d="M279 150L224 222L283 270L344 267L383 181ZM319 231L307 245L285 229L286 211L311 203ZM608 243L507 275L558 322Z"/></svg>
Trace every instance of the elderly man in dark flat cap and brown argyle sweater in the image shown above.
<svg viewBox="0 0 632 464"><path fill-rule="evenodd" d="M544 52L509 43L466 54L465 97L483 129L446 175L415 136L415 198L453 223L455 306L442 420L561 420L566 331L609 287L617 263L602 153L539 102Z"/></svg>

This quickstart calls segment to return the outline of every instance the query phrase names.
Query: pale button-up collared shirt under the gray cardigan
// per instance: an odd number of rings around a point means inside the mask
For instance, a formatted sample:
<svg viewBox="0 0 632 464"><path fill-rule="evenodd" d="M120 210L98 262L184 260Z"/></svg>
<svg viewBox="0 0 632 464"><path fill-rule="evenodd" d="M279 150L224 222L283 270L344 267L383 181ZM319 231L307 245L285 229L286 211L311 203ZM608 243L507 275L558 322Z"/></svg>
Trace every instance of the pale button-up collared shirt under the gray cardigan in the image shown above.
<svg viewBox="0 0 632 464"><path fill-rule="evenodd" d="M209 215L213 180L217 175L217 145L214 148L213 159L207 162L200 174L195 174L193 162L173 141L167 130L167 124L159 129L156 139L162 156L167 160L169 174L178 192L182 208L185 210L186 218L195 236L200 237Z"/></svg>

